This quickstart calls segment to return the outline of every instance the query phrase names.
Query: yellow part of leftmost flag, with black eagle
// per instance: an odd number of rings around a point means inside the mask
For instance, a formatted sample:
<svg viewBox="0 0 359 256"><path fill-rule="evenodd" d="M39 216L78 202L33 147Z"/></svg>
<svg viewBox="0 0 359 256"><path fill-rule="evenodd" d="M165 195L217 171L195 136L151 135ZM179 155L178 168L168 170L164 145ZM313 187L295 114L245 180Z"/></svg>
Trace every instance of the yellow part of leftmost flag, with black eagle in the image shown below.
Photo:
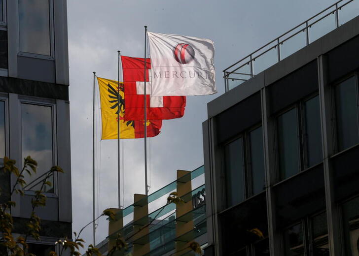
<svg viewBox="0 0 359 256"><path fill-rule="evenodd" d="M102 139L117 139L118 82L97 77L101 99ZM120 83L120 138L134 139L133 121L125 121L123 83Z"/></svg>

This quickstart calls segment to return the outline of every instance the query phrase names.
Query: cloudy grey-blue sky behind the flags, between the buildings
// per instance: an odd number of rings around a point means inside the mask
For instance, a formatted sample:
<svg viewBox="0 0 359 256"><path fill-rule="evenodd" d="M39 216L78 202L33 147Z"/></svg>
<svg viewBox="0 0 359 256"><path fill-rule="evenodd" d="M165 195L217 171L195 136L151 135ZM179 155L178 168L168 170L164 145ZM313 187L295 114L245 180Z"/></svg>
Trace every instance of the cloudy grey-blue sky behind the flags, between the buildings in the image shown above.
<svg viewBox="0 0 359 256"><path fill-rule="evenodd" d="M173 181L177 169L193 170L203 164L202 122L207 117L207 102L224 93L222 70L332 3L334 0L68 0L73 231L92 219L92 72L116 80L117 50L143 57L144 25L151 32L212 39L218 91L213 96L188 96L184 117L164 121L160 135L151 139L151 193ZM99 215L118 204L117 142L101 142L99 130L97 134ZM143 139L137 139L123 145L124 206L133 203L134 193L144 193L143 144ZM104 219L97 228L97 243L107 234ZM91 227L83 238L92 243Z"/></svg>

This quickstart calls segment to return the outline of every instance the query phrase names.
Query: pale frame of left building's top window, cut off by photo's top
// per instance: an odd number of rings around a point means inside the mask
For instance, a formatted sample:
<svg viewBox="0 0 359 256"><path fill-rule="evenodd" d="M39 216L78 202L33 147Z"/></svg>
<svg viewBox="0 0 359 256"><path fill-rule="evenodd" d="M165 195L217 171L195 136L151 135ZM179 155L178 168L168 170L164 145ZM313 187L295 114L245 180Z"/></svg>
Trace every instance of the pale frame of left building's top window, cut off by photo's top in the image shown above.
<svg viewBox="0 0 359 256"><path fill-rule="evenodd" d="M19 3L19 0L16 0L17 3ZM18 56L23 57L30 57L30 58L36 58L36 59L42 59L42 60L55 60L55 35L54 35L54 0L48 0L49 1L49 19L50 19L50 55L42 55L42 54L36 54L36 53L28 53L28 52L21 52L20 51L20 23L18 22ZM17 19L19 20L19 5L17 5Z"/></svg>

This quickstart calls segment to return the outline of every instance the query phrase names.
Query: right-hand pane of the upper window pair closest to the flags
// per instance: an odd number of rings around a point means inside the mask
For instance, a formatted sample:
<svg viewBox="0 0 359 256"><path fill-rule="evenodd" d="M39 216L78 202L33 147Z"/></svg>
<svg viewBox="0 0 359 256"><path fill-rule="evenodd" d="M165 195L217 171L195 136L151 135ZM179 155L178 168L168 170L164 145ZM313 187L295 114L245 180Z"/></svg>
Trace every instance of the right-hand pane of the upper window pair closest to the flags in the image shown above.
<svg viewBox="0 0 359 256"><path fill-rule="evenodd" d="M251 185L253 194L265 189L264 154L262 127L256 128L249 133L251 150Z"/></svg>

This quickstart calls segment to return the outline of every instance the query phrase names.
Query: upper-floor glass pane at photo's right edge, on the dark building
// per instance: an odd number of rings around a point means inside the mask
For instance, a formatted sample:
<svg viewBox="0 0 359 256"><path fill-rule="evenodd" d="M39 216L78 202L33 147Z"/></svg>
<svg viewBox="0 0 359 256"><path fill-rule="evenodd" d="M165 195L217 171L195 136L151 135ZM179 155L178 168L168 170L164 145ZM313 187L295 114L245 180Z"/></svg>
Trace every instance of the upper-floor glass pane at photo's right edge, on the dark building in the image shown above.
<svg viewBox="0 0 359 256"><path fill-rule="evenodd" d="M356 77L335 86L338 150L359 143Z"/></svg>

